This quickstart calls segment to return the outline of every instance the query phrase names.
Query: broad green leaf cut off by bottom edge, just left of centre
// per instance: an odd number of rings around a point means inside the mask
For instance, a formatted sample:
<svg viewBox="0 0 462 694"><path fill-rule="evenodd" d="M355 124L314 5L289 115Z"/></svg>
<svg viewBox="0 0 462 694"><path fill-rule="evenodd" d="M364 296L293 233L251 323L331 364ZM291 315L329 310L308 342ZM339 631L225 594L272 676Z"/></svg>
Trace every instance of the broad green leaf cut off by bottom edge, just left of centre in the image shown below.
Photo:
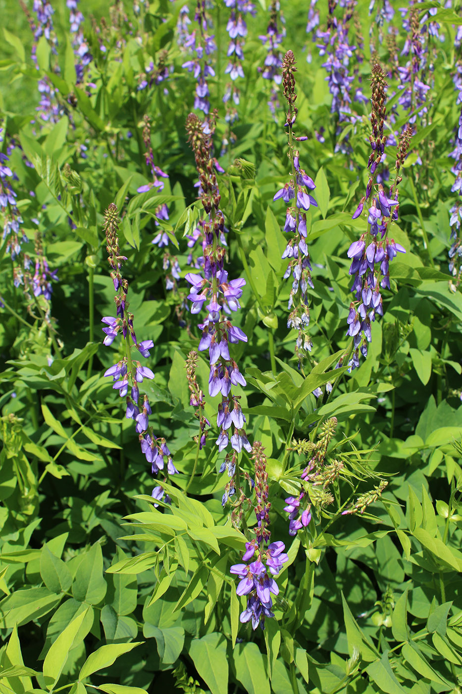
<svg viewBox="0 0 462 694"><path fill-rule="evenodd" d="M228 694L226 639L222 634L194 638L189 655L212 694Z"/></svg>

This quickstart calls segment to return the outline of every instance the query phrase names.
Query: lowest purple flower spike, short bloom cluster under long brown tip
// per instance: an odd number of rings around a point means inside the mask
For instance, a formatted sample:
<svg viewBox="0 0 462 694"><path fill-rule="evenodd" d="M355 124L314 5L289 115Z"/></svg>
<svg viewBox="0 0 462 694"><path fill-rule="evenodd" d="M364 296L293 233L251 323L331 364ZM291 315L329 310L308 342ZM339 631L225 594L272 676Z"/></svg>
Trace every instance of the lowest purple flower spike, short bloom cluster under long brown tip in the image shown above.
<svg viewBox="0 0 462 694"><path fill-rule="evenodd" d="M268 503L268 475L266 474L266 457L262 443L256 441L252 452L252 458L255 461L257 528L255 539L246 542L246 551L242 561L249 562L251 559L253 561L250 561L250 564L234 564L230 568L230 573L241 579L236 589L237 595L248 595L247 607L241 612L239 619L242 624L251 621L255 631L258 625L264 629L266 618L274 617L274 613L271 611L273 608L271 595L279 594L279 587L274 576L280 573L289 558L284 552L283 542L269 543L271 533L268 530L268 511L271 505ZM255 554L257 554L256 559Z"/></svg>

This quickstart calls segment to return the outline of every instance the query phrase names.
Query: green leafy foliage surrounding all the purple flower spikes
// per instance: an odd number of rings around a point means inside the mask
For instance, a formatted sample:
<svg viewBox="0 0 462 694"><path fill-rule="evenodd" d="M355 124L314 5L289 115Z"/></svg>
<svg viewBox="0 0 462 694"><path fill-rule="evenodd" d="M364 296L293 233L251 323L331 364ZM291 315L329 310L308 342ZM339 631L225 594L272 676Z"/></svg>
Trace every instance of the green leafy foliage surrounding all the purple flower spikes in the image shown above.
<svg viewBox="0 0 462 694"><path fill-rule="evenodd" d="M355 42L363 42L364 60L354 87L362 85L366 101L354 103L356 119L345 124L330 111L325 58L311 38L307 42L308 3L281 3L287 28L282 47L298 59L298 135L308 135L297 145L300 165L316 183L318 203L307 212L314 346L299 369L295 338L286 328L285 205L273 201L291 176L284 100L280 90L273 119L266 105L271 85L262 76L267 53L258 39L266 32L268 8L261 1L255 17L248 17L246 79L236 82L239 119L232 126L222 102L229 8L211 8L219 44L216 76L209 80L212 108L219 109L216 155L228 140L219 156L225 173L218 177L229 231L226 268L230 278L246 279L236 324L248 341L232 345L232 358L247 382L239 402L248 438L266 450L271 539L284 541L289 555L264 632L240 622L246 598L236 594L229 571L254 536L254 466L244 452L241 486L250 505L241 507L241 525L232 523L237 499L221 505L228 478L217 473L223 461L214 445L218 398L207 394L205 352L198 355L196 377L211 431L201 450L189 404L185 365L200 332L184 277L191 269L187 237L203 212L185 133L195 85L181 67L187 53L176 40L182 3L139 2L137 14L128 0L111 10L82 0L93 56L83 82L69 8L65 0L52 4L58 48L40 37L35 66L26 15L17 3L0 0L1 153L14 145L8 166L30 239L22 253L33 267L38 228L59 277L50 301L24 294L3 237L0 694L460 692L462 295L460 287L450 289L447 270L456 201L449 155L459 122L452 81L461 62L460 47L454 47L462 23L457 3L418 5L421 19L436 8L431 19L445 40L429 39L429 110L425 122L416 121L399 219L389 232L407 252L391 263L384 316L373 323L367 359L351 373L346 253L367 230L364 217L352 220L352 214L368 180L371 46L391 65L382 24L368 16L369 0L359 0L354 31L362 35ZM327 3L318 6L323 28ZM399 14L393 26L401 51ZM311 62L304 49L313 54ZM154 71L171 67L169 78L138 89L151 61ZM59 105L55 122L36 112L37 83L44 78ZM400 130L407 115L395 74L388 83L386 125ZM144 115L151 119L155 163L169 178L162 178L164 189L139 192L152 183ZM393 169L390 142L386 151ZM99 330L103 316L115 315L102 231L112 202L121 217L119 244L137 339L154 342L146 363L155 380L140 389L180 473L155 481L125 417L124 398L103 377L123 357L120 343L103 346ZM168 205L168 220L160 205ZM2 226L8 214L2 213ZM168 249L151 243L160 231ZM175 259L181 278L167 291L165 266ZM326 443L332 418L336 428ZM292 538L284 498L298 495L300 471L315 457L324 477L313 485L313 518ZM155 500L154 485L171 502Z"/></svg>

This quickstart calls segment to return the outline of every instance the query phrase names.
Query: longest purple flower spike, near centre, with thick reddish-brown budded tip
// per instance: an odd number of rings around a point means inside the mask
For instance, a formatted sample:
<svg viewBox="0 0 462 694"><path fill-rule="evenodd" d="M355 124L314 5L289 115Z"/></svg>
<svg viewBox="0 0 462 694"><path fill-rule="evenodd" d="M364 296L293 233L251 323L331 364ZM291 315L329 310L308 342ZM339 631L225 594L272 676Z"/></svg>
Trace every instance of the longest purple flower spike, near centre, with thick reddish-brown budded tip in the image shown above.
<svg viewBox="0 0 462 694"><path fill-rule="evenodd" d="M199 195L206 213L205 217L200 219L200 227L206 241L203 250L203 273L187 273L186 280L191 284L188 298L191 301L191 313L199 313L205 307L207 317L199 325L202 336L198 350L209 353L209 395L214 397L221 393L216 418L220 434L216 445L222 451L231 443L232 455L226 456L222 470L227 468L228 475L234 477L237 454L242 448L250 451L250 443L243 428L246 418L239 404L239 396L232 392L233 387L245 386L246 380L239 371L237 362L231 357L229 349L230 343L247 341L243 330L233 325L230 319L230 314L240 308L239 298L246 282L241 278L229 280L228 272L223 267L225 248L220 245L220 238L224 230L224 219L220 209L221 196L214 171L211 137L205 133L203 124L192 113L187 117L186 129L196 158ZM231 430L233 433L230 436ZM231 482L223 496L223 503L234 491L235 486Z"/></svg>

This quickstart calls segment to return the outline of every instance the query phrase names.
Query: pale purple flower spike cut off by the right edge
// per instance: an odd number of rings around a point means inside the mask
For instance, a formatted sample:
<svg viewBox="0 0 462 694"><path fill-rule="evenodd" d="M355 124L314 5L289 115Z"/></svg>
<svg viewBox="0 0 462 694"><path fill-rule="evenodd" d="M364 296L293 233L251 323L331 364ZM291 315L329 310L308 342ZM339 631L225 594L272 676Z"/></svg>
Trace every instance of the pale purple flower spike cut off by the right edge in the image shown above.
<svg viewBox="0 0 462 694"><path fill-rule="evenodd" d="M462 104L462 86L459 87L459 95L457 103ZM456 180L452 184L451 191L462 195L462 106L461 114L459 115L459 126L456 128L455 148L450 156L454 159L452 173L455 174ZM459 200L452 205L450 209L451 218L451 248L449 250L450 273L454 280L450 280L450 290L456 291L462 279L462 235L461 235L461 219L462 219L462 204Z"/></svg>

